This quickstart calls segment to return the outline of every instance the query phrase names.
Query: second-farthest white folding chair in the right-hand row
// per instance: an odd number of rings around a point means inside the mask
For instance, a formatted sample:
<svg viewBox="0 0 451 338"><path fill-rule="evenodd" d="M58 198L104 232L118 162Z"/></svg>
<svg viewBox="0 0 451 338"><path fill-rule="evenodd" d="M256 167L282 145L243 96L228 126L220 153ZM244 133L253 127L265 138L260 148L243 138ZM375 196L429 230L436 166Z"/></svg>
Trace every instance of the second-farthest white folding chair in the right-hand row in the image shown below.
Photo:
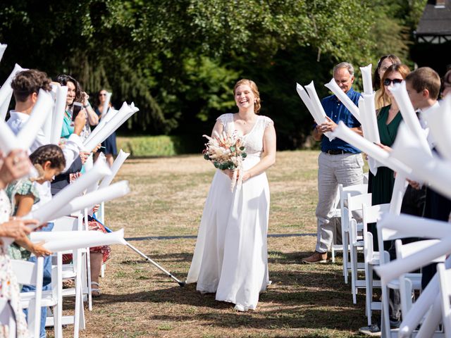
<svg viewBox="0 0 451 338"><path fill-rule="evenodd" d="M359 264L357 261L357 252L363 250L364 247L363 237L358 234L362 227L359 227L357 220L352 217L352 213L362 211L363 206L371 206L371 194L359 194L356 196L350 196L350 193L347 194L347 222L350 225L351 288L352 302L354 304L357 303L358 289L366 287L365 280L359 280L358 278L359 269L364 270L364 263Z"/></svg>

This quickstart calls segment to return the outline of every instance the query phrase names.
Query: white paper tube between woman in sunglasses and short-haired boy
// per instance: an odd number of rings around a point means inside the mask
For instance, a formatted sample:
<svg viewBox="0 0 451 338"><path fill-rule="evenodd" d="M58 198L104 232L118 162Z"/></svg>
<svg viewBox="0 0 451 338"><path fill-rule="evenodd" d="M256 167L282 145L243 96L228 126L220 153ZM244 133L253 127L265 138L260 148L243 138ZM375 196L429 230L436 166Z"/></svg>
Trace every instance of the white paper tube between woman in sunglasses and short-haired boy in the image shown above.
<svg viewBox="0 0 451 338"><path fill-rule="evenodd" d="M424 133L423 128L421 128L414 106L412 106L409 94L407 94L405 81L402 81L400 84L395 84L392 89L390 89L390 92L393 94L397 105L400 107L402 120L404 120L404 123L406 123L409 129L414 133L415 137L419 139L421 146L431 154L426 134Z"/></svg>

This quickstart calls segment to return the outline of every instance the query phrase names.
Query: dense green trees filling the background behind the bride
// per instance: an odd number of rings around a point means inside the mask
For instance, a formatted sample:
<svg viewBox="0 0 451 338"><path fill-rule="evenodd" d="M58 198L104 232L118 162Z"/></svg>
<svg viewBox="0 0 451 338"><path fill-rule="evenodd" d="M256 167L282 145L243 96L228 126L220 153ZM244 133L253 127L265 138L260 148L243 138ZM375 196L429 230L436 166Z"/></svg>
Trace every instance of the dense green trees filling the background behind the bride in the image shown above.
<svg viewBox="0 0 451 338"><path fill-rule="evenodd" d="M135 102L140 112L121 132L190 134L199 144L218 115L235 111L233 84L250 77L260 88L261 113L276 121L278 146L296 148L312 119L295 82L314 80L325 96L334 63L367 65L386 53L406 60L425 3L6 0L0 77L14 63L51 77L70 73L92 101L106 88L115 106Z"/></svg>

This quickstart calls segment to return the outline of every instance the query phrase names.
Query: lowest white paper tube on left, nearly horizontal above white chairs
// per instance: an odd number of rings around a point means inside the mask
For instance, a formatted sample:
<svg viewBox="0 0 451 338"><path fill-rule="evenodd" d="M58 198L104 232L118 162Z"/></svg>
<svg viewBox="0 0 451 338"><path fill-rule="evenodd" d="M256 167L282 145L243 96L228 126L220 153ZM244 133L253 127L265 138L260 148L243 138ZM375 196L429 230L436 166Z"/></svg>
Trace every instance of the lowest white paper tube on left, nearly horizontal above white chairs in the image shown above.
<svg viewBox="0 0 451 338"><path fill-rule="evenodd" d="M85 236L84 238L79 239L73 239L69 237L66 240L47 242L43 246L44 248L49 249L52 252L57 252L112 244L124 244L124 245L127 244L127 242L125 242L124 239L123 229L115 232L110 232L108 234L102 233L101 237L99 236L90 237L90 235L89 237Z"/></svg>

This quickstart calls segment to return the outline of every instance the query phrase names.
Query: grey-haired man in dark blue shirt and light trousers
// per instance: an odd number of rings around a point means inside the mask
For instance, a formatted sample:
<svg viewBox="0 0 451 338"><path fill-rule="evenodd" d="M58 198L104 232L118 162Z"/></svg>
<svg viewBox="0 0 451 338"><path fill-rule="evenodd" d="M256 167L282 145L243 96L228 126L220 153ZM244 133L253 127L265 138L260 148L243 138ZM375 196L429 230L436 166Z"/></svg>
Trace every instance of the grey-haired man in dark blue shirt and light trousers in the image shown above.
<svg viewBox="0 0 451 338"><path fill-rule="evenodd" d="M360 93L352 89L354 82L354 68L350 63L342 62L333 68L333 78L340 89L358 104ZM323 137L325 132L333 132L337 123L342 121L357 134L362 135L359 121L338 100L337 96L327 96L321 100L326 112L326 122L316 125L313 137L321 141L321 154L318 158L318 206L316 206L316 218L318 230L316 233L316 249L314 253L302 260L303 263L326 263L327 251L333 241L336 218L332 218L333 201L338 189L338 184L343 187L363 182L362 154L350 144L335 138L330 141Z"/></svg>

